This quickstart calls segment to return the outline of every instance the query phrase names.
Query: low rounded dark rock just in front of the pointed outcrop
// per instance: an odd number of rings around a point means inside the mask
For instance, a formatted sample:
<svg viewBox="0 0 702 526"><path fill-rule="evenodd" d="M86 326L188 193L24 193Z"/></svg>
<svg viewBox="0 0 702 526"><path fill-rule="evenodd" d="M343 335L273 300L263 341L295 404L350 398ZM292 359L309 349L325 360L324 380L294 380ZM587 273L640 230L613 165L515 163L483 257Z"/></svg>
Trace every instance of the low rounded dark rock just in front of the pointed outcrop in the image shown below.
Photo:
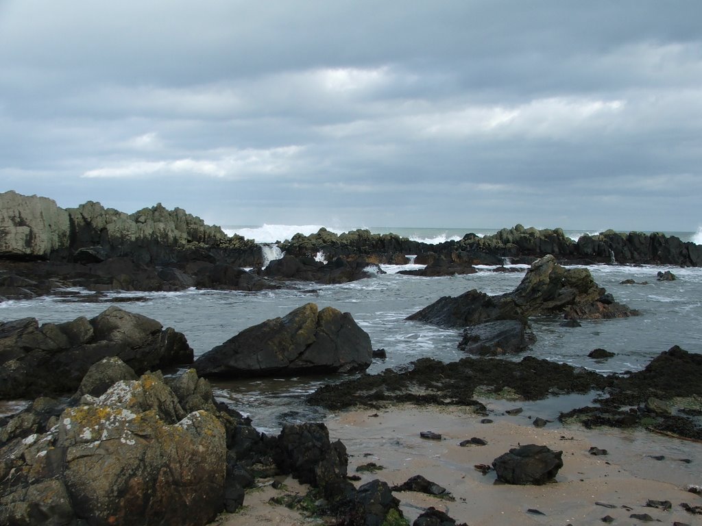
<svg viewBox="0 0 702 526"><path fill-rule="evenodd" d="M525 351L536 342L524 320L489 321L463 329L458 349L479 356L502 356Z"/></svg>

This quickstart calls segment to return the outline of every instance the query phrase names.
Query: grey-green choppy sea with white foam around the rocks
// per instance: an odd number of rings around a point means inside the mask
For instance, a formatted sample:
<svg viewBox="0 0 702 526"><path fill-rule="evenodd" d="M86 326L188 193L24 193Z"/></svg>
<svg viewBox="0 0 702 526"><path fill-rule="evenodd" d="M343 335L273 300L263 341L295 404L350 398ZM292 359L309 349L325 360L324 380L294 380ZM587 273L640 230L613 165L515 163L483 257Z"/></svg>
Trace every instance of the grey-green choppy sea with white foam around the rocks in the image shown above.
<svg viewBox="0 0 702 526"><path fill-rule="evenodd" d="M228 234L240 234L265 245L269 259L282 257L272 243L291 238L297 232L311 234L317 225L263 225L224 227ZM352 229L329 228L341 233ZM369 228L374 234L395 233L401 236L439 243L461 239L468 232L494 234L496 229L390 229ZM574 239L597 230L566 231ZM682 241L702 244L702 228L689 232L665 232ZM323 259L324 255L318 255ZM526 266L511 265L522 271ZM373 349L385 349L387 358L375 359L368 373L388 367L397 370L409 367L418 358L430 357L451 362L465 357L457 347L461 331L406 321L411 313L443 296L456 296L470 289L489 295L514 290L524 274L494 272L494 267L477 267L477 274L422 278L398 274L402 269L418 269L420 265L381 265L370 278L343 285L298 283L292 288L260 292L236 292L189 289L180 292L111 292L107 299L118 305L159 321L164 327L183 332L195 356L200 356L241 330L269 318L284 316L307 302L319 308L333 306L352 314L355 321L371 337ZM618 302L641 312L640 316L615 320L583 321L580 328L564 328L558 319L537 318L531 321L537 342L528 351L531 356L545 358L603 374L640 370L662 351L679 345L687 351L702 352L702 268L680 268L660 265L597 264L587 267L595 281L611 292ZM675 281L656 281L658 271L670 270ZM633 279L646 285L623 285ZM79 316L91 318L112 303L81 301L89 293L76 290L76 299L39 297L0 302L0 321L37 318L39 323L60 323ZM602 348L614 352L608 360L592 360L588 353ZM525 354L501 360L521 360ZM305 403L305 396L329 382L349 377L325 375L314 377L279 377L239 379L213 382L216 398L251 417L260 431L277 433L286 423L308 422L326 417L319 407ZM22 400L4 403L0 414L22 407ZM585 400L586 403L586 400ZM583 403L582 405L585 405Z"/></svg>

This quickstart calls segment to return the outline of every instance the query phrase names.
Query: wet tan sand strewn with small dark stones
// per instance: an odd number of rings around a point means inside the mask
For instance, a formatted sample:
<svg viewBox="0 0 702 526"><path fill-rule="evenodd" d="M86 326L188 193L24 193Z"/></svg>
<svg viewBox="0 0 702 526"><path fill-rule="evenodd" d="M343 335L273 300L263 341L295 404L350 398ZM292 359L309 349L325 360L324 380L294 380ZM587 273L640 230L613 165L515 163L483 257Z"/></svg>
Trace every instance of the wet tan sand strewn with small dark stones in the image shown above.
<svg viewBox="0 0 702 526"><path fill-rule="evenodd" d="M383 466L376 473L359 473L362 480L357 484L380 478L399 485L411 476L422 475L445 487L455 499L395 492L410 523L423 509L434 506L470 526L599 525L607 515L615 524L634 525L645 521L631 515L643 514L668 525L702 524L702 515L692 515L680 506L683 502L702 504L701 497L686 490L688 485L702 482L702 444L641 430L592 431L557 423L537 429L529 416L523 412L511 417L493 409L490 419L494 422L483 424L484 417L463 407L400 406L378 412L340 412L326 424L332 440L340 439L347 447L350 475L357 466L369 462ZM442 440L420 438L421 431L440 433ZM483 438L487 445L458 445L472 437ZM494 471L483 475L474 467L491 464L510 448L529 443L563 451L564 466L555 482L543 486L496 484ZM592 446L609 453L592 455L588 452ZM249 491L244 509L223 515L219 523L309 524L310 519L300 513L269 504L271 497L285 492L305 492L291 478L284 484L284 490L266 485ZM667 500L673 507L664 511L646 506L649 499Z"/></svg>

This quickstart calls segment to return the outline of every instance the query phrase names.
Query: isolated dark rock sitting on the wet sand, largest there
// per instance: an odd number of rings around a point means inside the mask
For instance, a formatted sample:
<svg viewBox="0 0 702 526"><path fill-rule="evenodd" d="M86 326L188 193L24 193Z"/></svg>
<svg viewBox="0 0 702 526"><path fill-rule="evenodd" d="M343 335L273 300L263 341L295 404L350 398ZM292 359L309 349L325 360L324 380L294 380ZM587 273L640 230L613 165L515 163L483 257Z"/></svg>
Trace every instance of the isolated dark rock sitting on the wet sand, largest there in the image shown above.
<svg viewBox="0 0 702 526"><path fill-rule="evenodd" d="M543 485L555 478L558 470L563 467L562 453L543 445L523 445L497 457L492 466L501 482Z"/></svg>

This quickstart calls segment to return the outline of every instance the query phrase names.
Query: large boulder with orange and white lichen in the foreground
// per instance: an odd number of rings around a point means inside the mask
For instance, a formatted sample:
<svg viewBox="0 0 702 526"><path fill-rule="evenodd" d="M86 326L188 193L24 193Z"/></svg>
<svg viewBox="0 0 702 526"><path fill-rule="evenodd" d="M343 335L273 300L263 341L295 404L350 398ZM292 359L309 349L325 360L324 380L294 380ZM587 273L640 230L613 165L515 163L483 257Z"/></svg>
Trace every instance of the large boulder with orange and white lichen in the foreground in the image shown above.
<svg viewBox="0 0 702 526"><path fill-rule="evenodd" d="M86 395L47 425L0 443L1 524L199 526L223 508L220 415L186 414L160 375Z"/></svg>

